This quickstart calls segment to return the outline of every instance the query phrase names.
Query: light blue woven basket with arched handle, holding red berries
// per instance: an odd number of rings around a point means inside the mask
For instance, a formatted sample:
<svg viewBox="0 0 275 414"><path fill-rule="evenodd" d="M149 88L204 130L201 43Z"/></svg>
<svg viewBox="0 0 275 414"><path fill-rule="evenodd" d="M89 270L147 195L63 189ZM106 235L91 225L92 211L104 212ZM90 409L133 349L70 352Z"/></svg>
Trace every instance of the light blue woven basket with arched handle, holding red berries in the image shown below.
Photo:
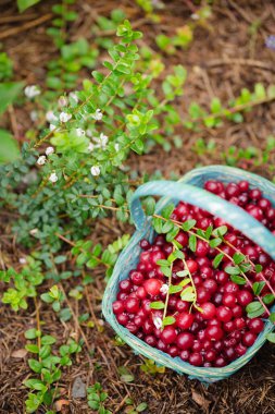
<svg viewBox="0 0 275 414"><path fill-rule="evenodd" d="M195 367L183 362L179 357L173 358L168 354L149 346L142 340L139 340L132 334L126 328L116 321L115 315L112 310L112 303L116 300L118 282L126 279L129 270L134 269L138 263L139 254L141 252L139 241L141 239L152 240L154 236L154 231L150 222L151 219L145 216L141 208L139 197L142 196L165 196L157 204L157 212L159 214L167 204L176 204L179 200L203 208L240 230L275 259L274 235L240 207L202 190L204 182L211 179L220 180L225 183L247 180L252 187L261 188L264 197L268 198L273 206L275 206L274 184L259 175L230 167L212 166L199 168L184 175L178 182L154 181L141 185L135 192L130 200L132 218L137 230L117 259L113 275L107 285L102 302L102 310L105 319L136 353L153 360L159 365L174 369L179 374L187 374L190 378L197 378L203 382L218 381L240 369L264 344L266 341L266 334L273 330L274 326L266 320L265 328L259 334L254 344L243 356L235 360L229 365L223 368ZM273 310L274 309L275 306L273 306Z"/></svg>

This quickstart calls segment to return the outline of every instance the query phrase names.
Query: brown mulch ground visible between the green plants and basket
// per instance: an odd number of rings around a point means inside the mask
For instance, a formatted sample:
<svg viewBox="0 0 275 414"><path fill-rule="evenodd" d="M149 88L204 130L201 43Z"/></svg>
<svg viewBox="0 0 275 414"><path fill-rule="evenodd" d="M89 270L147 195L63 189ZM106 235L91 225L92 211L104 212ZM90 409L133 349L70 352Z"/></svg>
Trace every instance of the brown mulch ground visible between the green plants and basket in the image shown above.
<svg viewBox="0 0 275 414"><path fill-rule="evenodd" d="M120 3L120 4L118 4ZM184 64L188 70L188 81L185 87L184 98L178 99L178 108L186 113L188 105L196 100L202 106L208 106L213 96L217 96L226 102L233 96L237 96L241 87L252 88L257 82L268 85L274 82L275 52L267 50L264 39L274 33L275 4L270 1L215 1L213 16L209 28L198 27L195 39L187 51L178 50L176 54L164 57L167 65ZM3 12L0 16L0 41L4 50L14 61L16 78L26 83L39 83L43 85L46 63L55 56L51 39L46 34L50 24L52 2L45 2L29 9L17 16L15 2L1 1ZM143 41L155 49L154 38L158 34L172 35L175 28L186 24L192 13L191 1L166 1L164 11L160 11L161 23L152 24L145 19L143 13L129 0L76 1L75 9L79 13L79 20L72 24L70 36L72 39L80 35L89 41L92 38L90 26L97 15L109 15L110 11L122 7L136 27L145 34ZM36 22L28 28L30 22ZM252 34L251 27L260 22L259 29ZM87 76L87 73L84 74ZM16 108L13 114L20 131L20 139L30 125L28 106ZM172 172L183 174L197 165L224 163L224 154L235 145L237 148L254 146L264 148L265 138L274 133L275 104L263 105L253 108L246 113L246 120L240 124L225 121L217 130L202 129L199 133L179 130L177 133L183 139L183 147L165 153L154 146L150 154L142 157L132 156L130 166L139 173L159 170L165 178ZM10 123L8 118L5 123ZM193 145L198 138L213 139L216 150L204 155L193 151ZM273 162L273 160L272 160ZM262 175L271 178L265 167L253 167L249 161L240 160L240 167L253 170ZM1 214L2 216L2 214ZM20 246L13 240L10 223L1 224L2 242L1 258L7 264L16 266L21 255ZM115 229L115 230L114 230ZM103 244L113 241L117 235L133 229L124 228L113 219L103 220L96 224L95 240ZM96 283L86 292L84 299L77 304L71 305L77 317L86 312L91 312L95 321L100 320L100 299L104 290L103 269L93 272ZM71 282L71 287L73 285ZM65 291L68 284L64 283ZM77 325L61 322L49 308L41 305L40 317L45 322L47 333L55 336L60 343L68 336L80 338L82 333ZM24 331L35 326L35 309L27 313L15 314L8 307L0 305L0 413L24 413L24 400L26 389L22 381L28 377L27 356L16 357L14 351L23 350L25 345ZM140 370L142 357L133 354L127 345L117 346L114 343L114 332L103 326L103 332L97 328L90 329L83 326L83 331L89 346L93 350L92 356L88 356L85 349L77 355L74 365L63 375L60 387L62 398L70 401L64 405L62 413L88 413L85 399L74 399L72 387L76 378L87 385L99 380L109 394L108 407L113 413L125 413L124 402L132 398L135 404L148 403L146 413L150 414L268 414L275 412L275 349L266 344L259 354L238 374L232 378L205 387L197 380L189 380L166 369L164 374L152 376ZM132 383L121 380L117 367L126 366L135 376ZM42 413L42 411L40 412Z"/></svg>

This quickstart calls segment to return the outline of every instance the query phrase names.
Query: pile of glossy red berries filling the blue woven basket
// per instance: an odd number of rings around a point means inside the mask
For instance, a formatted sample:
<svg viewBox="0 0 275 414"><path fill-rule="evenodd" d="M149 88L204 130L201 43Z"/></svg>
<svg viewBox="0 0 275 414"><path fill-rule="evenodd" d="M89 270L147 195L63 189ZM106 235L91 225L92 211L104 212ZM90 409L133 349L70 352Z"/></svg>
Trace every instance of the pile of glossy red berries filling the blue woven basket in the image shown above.
<svg viewBox="0 0 275 414"><path fill-rule="evenodd" d="M230 203L239 205L271 231L275 231L275 209L268 199L263 198L258 188L250 190L249 183L224 185L217 181L208 181L204 188ZM226 224L222 219L208 211L180 202L171 219L185 222L197 221L196 227L207 230ZM239 231L227 226L224 242L218 247L233 257L234 247L246 255L253 264L262 266L262 272L248 272L251 283L262 278L275 288L275 263L258 245L245 238ZM165 302L167 278L158 261L166 259L173 251L165 235L157 235L150 244L141 240L141 252L136 269L130 270L127 279L120 282L117 300L113 312L117 321L148 345L166 352L172 357L179 356L195 366L223 367L243 355L263 330L261 318L249 319L246 306L254 300L251 287L239 285L230 280L225 268L232 266L224 256L217 268L213 259L217 252L204 241L198 240L196 252L189 248L188 232L180 231L175 240L183 246L185 260L192 276L197 291L197 304L200 309L190 308L190 302L180 299L179 293L171 294L167 302L167 315L175 318L174 324L162 328L163 310L152 309L154 301ZM225 241L229 242L228 244ZM173 267L173 284L183 279L177 272L184 269L182 260ZM268 292L265 285L262 293ZM266 316L266 315L265 315Z"/></svg>

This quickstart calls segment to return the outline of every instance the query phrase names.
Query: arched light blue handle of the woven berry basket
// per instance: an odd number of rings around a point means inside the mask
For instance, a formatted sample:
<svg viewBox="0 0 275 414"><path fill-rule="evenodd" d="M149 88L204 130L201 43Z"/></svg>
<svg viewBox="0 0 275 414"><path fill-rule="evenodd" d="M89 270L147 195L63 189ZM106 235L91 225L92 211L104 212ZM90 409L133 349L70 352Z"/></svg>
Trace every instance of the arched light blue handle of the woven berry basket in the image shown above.
<svg viewBox="0 0 275 414"><path fill-rule="evenodd" d="M148 195L167 196L172 200L186 202L208 210L214 216L221 217L227 223L257 243L273 259L275 259L275 236L262 223L255 220L242 208L226 202L201 187L180 182L164 180L151 181L140 185L136 190L132 196L129 207L137 230L141 230L147 222L147 217L141 207L140 197ZM164 203L162 204L164 206ZM158 207L160 210L160 203Z"/></svg>

